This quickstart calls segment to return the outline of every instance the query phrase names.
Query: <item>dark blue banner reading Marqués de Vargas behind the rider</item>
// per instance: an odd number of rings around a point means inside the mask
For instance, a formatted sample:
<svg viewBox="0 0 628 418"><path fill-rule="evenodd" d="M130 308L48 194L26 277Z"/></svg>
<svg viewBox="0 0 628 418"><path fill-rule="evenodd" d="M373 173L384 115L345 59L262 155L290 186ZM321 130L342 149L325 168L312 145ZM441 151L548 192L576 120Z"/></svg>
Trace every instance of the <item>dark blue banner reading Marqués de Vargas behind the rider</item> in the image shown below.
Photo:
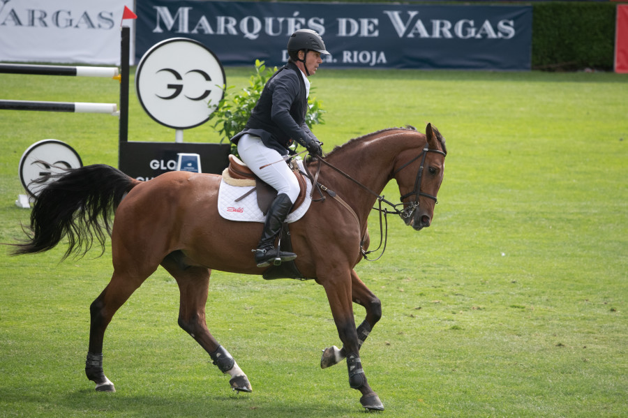
<svg viewBox="0 0 628 418"><path fill-rule="evenodd" d="M136 13L136 61L184 37L225 66L278 66L288 37L313 29L326 67L530 70L532 6L137 0Z"/></svg>

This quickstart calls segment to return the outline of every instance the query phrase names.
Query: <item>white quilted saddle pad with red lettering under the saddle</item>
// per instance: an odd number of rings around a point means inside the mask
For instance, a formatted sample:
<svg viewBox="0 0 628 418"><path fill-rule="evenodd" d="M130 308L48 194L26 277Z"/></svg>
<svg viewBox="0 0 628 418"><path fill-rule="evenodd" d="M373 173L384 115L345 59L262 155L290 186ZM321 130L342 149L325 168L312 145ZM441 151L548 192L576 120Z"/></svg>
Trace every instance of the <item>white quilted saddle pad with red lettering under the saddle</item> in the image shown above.
<svg viewBox="0 0 628 418"><path fill-rule="evenodd" d="M303 170L303 163L299 161L299 167ZM299 221L303 217L312 203L310 193L312 191L312 183L306 178L307 190L304 202L286 218L288 223ZM220 189L218 190L218 213L225 219L230 221L244 222L264 222L266 216L262 214L260 207L257 206L257 192L253 191L244 199L236 202L235 200L255 186L230 186L224 180L220 181Z"/></svg>

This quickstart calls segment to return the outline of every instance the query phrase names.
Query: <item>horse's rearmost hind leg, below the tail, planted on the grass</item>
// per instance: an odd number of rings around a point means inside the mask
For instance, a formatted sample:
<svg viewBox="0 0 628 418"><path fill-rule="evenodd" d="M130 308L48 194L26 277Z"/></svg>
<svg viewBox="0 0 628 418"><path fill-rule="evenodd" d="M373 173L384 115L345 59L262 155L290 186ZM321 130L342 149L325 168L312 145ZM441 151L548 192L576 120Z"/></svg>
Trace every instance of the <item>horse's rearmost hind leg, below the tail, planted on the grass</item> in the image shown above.
<svg viewBox="0 0 628 418"><path fill-rule="evenodd" d="M91 324L89 327L89 350L85 361L85 374L96 383L97 391L116 391L114 384L107 379L103 371L103 338L107 325L114 313L140 287L150 274L132 277L114 271L111 281L102 293L89 306Z"/></svg>

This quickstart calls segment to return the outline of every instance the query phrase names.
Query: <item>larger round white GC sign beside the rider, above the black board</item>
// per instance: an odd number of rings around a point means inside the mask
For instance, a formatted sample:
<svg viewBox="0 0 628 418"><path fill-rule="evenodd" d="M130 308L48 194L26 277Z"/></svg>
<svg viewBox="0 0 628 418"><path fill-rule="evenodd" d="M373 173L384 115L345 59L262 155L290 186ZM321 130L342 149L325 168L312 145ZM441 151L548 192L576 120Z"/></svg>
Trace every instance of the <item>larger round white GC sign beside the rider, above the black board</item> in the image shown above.
<svg viewBox="0 0 628 418"><path fill-rule="evenodd" d="M225 92L225 70L214 52L188 38L157 43L135 71L137 98L149 116L174 129L204 124Z"/></svg>

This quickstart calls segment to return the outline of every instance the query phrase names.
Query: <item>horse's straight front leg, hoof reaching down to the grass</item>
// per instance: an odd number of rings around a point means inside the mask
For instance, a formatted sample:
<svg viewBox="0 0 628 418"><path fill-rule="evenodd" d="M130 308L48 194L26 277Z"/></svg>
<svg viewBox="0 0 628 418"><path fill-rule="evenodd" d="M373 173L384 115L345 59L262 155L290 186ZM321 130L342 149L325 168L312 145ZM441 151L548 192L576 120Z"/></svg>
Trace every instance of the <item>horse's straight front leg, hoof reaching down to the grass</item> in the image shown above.
<svg viewBox="0 0 628 418"><path fill-rule="evenodd" d="M345 277L343 277L345 276ZM359 357L359 348L355 321L353 319L351 274L333 276L331 280L324 280L319 276L319 283L323 285L329 300L331 314L336 322L338 336L343 342L347 357L347 371L349 373L349 385L352 389L361 392L360 403L368 410L384 410L384 405L379 396L366 381L366 375Z"/></svg>

